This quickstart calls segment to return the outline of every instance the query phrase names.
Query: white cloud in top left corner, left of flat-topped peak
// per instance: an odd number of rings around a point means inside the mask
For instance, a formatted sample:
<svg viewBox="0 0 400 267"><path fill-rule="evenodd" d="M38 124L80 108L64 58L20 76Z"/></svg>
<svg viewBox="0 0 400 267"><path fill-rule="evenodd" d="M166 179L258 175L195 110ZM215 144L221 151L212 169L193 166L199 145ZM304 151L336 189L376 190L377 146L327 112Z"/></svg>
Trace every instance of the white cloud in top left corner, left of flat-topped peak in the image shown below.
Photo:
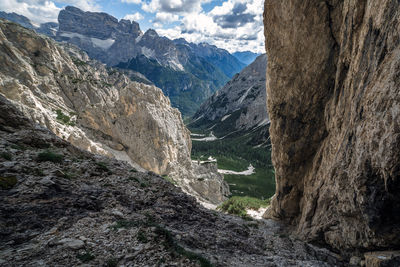
<svg viewBox="0 0 400 267"><path fill-rule="evenodd" d="M100 7L95 0L64 0L63 3L73 5L85 11L99 11ZM45 0L6 0L0 1L0 10L15 12L29 18L34 23L56 22L58 8L54 1Z"/></svg>

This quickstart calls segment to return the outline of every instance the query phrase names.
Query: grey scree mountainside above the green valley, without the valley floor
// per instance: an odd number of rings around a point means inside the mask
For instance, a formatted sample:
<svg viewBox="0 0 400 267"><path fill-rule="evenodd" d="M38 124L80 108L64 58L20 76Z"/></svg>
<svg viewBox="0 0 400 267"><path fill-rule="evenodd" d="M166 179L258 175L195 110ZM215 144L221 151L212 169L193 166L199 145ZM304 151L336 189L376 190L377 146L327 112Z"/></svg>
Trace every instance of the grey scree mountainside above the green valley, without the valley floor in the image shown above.
<svg viewBox="0 0 400 267"><path fill-rule="evenodd" d="M266 54L235 75L222 89L204 102L189 124L210 128L219 137L237 131L265 128L269 122L266 108Z"/></svg>

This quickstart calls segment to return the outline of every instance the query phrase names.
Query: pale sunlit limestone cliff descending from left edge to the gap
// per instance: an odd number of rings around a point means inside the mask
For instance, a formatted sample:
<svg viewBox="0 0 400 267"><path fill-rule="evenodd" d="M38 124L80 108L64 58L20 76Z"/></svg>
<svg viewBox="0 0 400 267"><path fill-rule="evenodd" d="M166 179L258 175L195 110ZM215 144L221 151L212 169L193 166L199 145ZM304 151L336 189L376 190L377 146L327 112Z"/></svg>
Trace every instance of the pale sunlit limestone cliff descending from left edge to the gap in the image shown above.
<svg viewBox="0 0 400 267"><path fill-rule="evenodd" d="M192 165L189 131L159 88L132 82L72 45L4 20L0 93L80 148L168 175L213 203L228 192L218 173L198 177L203 170Z"/></svg>

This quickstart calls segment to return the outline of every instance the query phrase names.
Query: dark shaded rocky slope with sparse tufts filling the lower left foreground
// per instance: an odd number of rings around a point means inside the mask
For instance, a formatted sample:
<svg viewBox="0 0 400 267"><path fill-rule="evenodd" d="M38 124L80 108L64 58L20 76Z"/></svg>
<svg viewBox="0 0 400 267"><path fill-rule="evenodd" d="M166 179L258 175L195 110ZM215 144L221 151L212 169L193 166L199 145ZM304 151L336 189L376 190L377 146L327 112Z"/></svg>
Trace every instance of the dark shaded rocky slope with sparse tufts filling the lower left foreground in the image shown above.
<svg viewBox="0 0 400 267"><path fill-rule="evenodd" d="M334 266L273 221L200 207L154 173L95 156L0 96L0 266Z"/></svg>

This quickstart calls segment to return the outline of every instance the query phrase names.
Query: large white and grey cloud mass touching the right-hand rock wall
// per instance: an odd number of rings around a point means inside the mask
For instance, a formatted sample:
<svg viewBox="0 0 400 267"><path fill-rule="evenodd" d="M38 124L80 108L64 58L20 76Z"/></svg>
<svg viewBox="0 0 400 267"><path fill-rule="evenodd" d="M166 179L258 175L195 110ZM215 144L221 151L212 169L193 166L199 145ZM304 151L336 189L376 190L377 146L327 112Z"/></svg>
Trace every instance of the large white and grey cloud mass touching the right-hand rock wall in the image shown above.
<svg viewBox="0 0 400 267"><path fill-rule="evenodd" d="M189 42L207 42L230 52L250 50L265 53L263 0L228 0L209 13L183 15L182 24L172 29L157 25L160 35Z"/></svg>

